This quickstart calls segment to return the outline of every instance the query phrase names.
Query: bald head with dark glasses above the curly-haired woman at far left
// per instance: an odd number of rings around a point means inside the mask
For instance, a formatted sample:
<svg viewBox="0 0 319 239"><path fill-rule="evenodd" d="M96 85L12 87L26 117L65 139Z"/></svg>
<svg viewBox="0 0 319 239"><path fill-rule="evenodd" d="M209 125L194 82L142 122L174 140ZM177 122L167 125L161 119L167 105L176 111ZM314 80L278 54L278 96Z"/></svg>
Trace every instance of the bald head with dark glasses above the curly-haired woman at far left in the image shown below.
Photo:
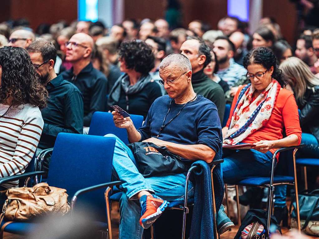
<svg viewBox="0 0 319 239"><path fill-rule="evenodd" d="M11 33L8 46L27 48L35 40L33 32L19 29Z"/></svg>

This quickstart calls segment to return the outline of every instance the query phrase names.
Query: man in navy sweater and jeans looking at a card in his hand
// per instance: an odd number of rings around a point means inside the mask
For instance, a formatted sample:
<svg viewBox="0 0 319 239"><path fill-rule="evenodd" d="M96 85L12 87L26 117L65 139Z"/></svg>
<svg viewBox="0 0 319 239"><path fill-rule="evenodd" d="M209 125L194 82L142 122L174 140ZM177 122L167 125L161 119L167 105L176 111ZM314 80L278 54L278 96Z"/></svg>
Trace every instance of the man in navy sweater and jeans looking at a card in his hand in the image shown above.
<svg viewBox="0 0 319 239"><path fill-rule="evenodd" d="M194 92L189 59L182 54L167 56L160 63L159 75L168 95L154 101L144 125L137 130L129 117L123 118L114 111L116 127L127 130L131 143L152 142L184 159L211 163L222 147L220 120L216 105ZM120 199L120 238L140 239L143 228L149 228L162 214L167 201L182 201L185 190L185 173L145 178L134 162L130 148L117 138L113 168L124 188ZM188 190L192 197L191 182Z"/></svg>

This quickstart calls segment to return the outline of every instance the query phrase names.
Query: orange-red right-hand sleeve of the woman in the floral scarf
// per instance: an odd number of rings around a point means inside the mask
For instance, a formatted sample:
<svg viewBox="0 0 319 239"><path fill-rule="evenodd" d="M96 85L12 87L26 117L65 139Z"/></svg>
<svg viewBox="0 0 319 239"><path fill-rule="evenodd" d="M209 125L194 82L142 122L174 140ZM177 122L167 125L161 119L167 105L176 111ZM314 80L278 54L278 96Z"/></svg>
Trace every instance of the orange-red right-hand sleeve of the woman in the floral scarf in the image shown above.
<svg viewBox="0 0 319 239"><path fill-rule="evenodd" d="M298 106L296 100L290 95L282 109L282 117L284 119L284 125L286 129L286 135L295 134L298 136L298 145L301 142L301 128L299 123Z"/></svg>

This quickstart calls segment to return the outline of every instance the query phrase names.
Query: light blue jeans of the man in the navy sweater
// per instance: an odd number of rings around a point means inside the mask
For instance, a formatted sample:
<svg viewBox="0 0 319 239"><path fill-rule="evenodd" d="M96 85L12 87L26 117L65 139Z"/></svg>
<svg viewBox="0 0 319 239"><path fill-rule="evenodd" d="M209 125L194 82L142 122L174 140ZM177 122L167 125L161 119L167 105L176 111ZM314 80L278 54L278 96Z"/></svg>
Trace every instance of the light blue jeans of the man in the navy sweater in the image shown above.
<svg viewBox="0 0 319 239"><path fill-rule="evenodd" d="M140 191L148 191L167 201L183 201L186 176L180 174L163 174L144 178L138 172L132 151L114 134L106 137L116 139L113 156L113 173L122 180L124 192L120 199L119 238L141 239L143 228L139 224L141 206L135 195ZM194 196L191 182L188 186L188 197Z"/></svg>

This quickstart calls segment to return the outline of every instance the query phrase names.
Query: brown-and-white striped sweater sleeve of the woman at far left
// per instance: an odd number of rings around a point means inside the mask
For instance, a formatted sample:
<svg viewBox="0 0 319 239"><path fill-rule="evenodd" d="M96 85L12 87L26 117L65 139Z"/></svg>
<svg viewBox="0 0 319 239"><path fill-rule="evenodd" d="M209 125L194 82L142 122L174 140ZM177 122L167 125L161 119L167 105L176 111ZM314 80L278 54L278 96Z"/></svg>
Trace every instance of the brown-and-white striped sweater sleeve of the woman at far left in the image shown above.
<svg viewBox="0 0 319 239"><path fill-rule="evenodd" d="M10 162L0 164L1 177L22 174L29 165L38 146L43 128L40 111L33 112L22 125L17 147Z"/></svg>

